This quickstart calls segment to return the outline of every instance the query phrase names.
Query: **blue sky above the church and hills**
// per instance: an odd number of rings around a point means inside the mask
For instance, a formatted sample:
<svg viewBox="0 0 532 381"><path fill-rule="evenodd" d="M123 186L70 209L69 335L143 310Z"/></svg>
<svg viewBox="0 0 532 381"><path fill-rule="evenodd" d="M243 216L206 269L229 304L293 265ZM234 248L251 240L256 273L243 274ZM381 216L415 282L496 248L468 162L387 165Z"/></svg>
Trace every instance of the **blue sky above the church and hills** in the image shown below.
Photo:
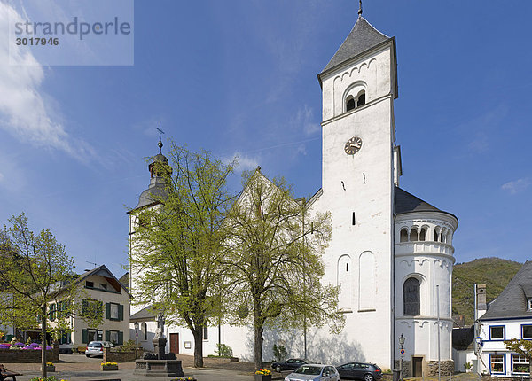
<svg viewBox="0 0 532 381"><path fill-rule="evenodd" d="M0 2L3 31L12 5ZM139 0L134 66L7 66L4 43L0 222L25 212L78 271L90 261L121 276L126 212L149 183L144 158L158 152L159 121L178 144L238 153L241 168L261 165L296 196L313 194L316 74L357 9L354 0ZM364 2L364 17L396 36L401 186L458 216L457 262L531 257L531 14L526 1Z"/></svg>

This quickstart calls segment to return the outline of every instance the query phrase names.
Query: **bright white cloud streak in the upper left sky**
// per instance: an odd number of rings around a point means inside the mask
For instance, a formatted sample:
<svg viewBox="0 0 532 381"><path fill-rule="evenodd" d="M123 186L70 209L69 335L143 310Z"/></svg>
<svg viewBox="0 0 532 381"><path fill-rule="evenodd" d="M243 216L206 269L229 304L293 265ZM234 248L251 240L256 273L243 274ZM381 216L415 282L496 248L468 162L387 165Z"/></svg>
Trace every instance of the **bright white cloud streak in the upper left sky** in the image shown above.
<svg viewBox="0 0 532 381"><path fill-rule="evenodd" d="M8 35L11 20L23 21L11 5L0 2L0 33ZM53 101L42 91L45 75L29 50L10 51L0 44L0 128L22 142L53 148L86 161L95 157L90 144L70 136ZM7 63L11 62L12 65Z"/></svg>

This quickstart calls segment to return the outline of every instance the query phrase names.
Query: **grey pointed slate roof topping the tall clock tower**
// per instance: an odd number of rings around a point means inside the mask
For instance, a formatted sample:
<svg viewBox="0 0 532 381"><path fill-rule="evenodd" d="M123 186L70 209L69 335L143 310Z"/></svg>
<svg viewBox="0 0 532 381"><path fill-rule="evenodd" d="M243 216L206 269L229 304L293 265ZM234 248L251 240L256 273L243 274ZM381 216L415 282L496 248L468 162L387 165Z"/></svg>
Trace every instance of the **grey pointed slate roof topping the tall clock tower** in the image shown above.
<svg viewBox="0 0 532 381"><path fill-rule="evenodd" d="M353 29L351 29L351 33L340 45L338 51L334 53L323 72L332 69L334 66L339 66L348 59L356 57L389 39L390 37L380 33L364 17L360 16L356 20Z"/></svg>

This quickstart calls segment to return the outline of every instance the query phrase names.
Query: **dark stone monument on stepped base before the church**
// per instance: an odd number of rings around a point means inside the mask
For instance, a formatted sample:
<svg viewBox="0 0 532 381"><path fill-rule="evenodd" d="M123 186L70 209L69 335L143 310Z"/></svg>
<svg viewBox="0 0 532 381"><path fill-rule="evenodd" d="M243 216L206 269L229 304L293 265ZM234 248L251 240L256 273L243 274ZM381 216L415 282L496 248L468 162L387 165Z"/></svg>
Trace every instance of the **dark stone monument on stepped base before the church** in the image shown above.
<svg viewBox="0 0 532 381"><path fill-rule="evenodd" d="M166 353L167 339L164 337L164 316L157 315L157 330L153 338L154 352L145 353L142 360L135 361L136 375L158 376L158 377L180 377L183 376L181 360L176 360L176 354Z"/></svg>

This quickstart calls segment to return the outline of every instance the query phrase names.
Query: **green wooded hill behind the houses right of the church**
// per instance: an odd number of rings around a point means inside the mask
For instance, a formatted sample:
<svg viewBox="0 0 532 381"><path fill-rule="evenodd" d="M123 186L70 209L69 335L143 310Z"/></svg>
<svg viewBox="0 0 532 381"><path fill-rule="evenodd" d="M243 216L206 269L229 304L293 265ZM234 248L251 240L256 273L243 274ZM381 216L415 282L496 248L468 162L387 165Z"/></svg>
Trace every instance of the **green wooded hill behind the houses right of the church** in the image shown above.
<svg viewBox="0 0 532 381"><path fill-rule="evenodd" d="M473 324L474 284L486 284L487 300L505 289L522 263L500 258L481 258L456 264L452 273L452 315L464 315L465 324Z"/></svg>

